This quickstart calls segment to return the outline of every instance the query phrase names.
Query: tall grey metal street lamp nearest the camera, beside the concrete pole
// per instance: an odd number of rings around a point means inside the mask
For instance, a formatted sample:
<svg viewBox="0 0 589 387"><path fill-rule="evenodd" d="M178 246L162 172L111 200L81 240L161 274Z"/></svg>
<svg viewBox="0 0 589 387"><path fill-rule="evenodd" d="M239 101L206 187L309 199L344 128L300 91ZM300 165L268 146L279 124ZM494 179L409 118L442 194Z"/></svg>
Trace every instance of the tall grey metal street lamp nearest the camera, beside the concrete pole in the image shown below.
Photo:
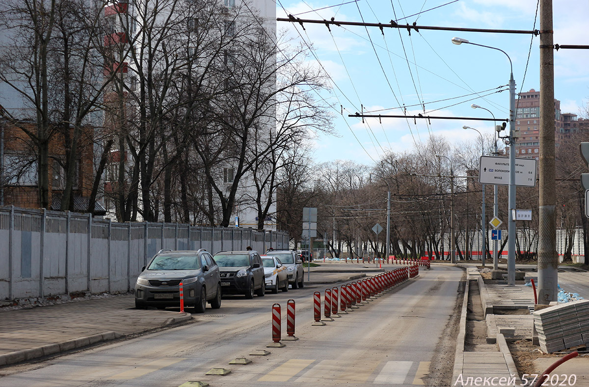
<svg viewBox="0 0 589 387"><path fill-rule="evenodd" d="M507 285L515 286L515 81L514 67L507 52L497 47L471 43L466 39L452 38L454 44L472 44L501 51L509 59L511 75L509 76L509 194L508 194L508 252L507 252Z"/></svg>

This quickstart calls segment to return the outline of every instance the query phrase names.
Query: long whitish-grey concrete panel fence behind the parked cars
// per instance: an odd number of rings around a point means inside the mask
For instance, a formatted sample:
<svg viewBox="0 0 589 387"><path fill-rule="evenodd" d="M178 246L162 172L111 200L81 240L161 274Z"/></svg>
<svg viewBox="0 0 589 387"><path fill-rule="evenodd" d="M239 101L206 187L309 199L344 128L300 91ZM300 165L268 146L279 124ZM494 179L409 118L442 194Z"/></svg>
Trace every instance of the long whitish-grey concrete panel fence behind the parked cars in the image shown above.
<svg viewBox="0 0 589 387"><path fill-rule="evenodd" d="M288 233L176 223L115 223L89 214L0 207L0 299L120 293L160 249L288 249Z"/></svg>

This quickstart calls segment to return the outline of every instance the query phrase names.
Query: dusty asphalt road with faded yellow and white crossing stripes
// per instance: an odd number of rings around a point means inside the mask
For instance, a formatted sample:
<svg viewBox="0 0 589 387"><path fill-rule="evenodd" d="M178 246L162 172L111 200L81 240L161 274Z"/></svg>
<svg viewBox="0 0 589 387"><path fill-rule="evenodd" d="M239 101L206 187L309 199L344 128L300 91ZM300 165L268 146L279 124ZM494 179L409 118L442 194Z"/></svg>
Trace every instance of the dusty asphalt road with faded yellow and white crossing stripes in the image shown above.
<svg viewBox="0 0 589 387"><path fill-rule="evenodd" d="M462 270L455 267L423 270L417 279L325 326L311 325L317 288L253 300L226 297L221 309L207 309L196 323L37 363L36 369L0 378L0 387L176 387L188 381L211 386L423 385L436 366L432 359L453 362L453 351L436 353L436 345L454 313L461 277ZM285 316L290 298L297 303L300 340L266 348L270 308L280 303ZM272 353L249 355L256 349ZM240 357L252 363L228 364ZM231 373L205 375L212 368Z"/></svg>

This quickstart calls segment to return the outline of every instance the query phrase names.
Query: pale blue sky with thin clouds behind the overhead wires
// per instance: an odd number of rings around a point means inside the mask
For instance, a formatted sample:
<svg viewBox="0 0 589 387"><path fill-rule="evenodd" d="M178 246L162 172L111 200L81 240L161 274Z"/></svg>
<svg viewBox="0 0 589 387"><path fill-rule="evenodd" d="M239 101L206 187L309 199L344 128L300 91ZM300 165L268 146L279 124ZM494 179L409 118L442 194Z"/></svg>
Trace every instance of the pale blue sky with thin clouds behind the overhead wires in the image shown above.
<svg viewBox="0 0 589 387"><path fill-rule="evenodd" d="M280 0L276 15L293 14L303 19L334 16L336 21L383 24L396 19L399 24L417 22L439 27L540 28L539 19L534 27L537 0L360 0L308 12L348 1ZM451 4L445 5L447 3ZM554 43L589 45L589 1L559 0L554 1L553 6ZM419 12L422 13L410 16ZM406 16L409 17L404 19ZM372 164L387 150L411 150L432 136L444 137L455 146L477 141L479 134L463 130L463 125L475 127L490 137L493 124L485 121L432 120L428 125L426 120L415 124L413 120L383 118L381 123L375 118L362 124L358 118L348 117L360 111L361 104L365 112L395 108L381 114L402 114L396 107L405 105L407 114L423 114L423 105L419 104L425 102L428 115L491 118L487 111L472 109L474 103L488 108L497 118L508 118L507 87L505 91L496 92L509 81L507 57L494 49L454 45L452 37L501 48L513 62L516 92L540 89L540 37L532 38L533 35L420 30L412 31L409 37L406 29L385 28L383 37L378 28L368 28L367 32L364 27L332 27L330 33L320 24L306 24L306 31L303 31L298 24L277 23L278 29L289 29L292 37L302 37L313 45L320 65L332 80L330 101L337 107L337 113L335 110L333 113L336 113L338 137L313 138L313 158L317 162L339 159ZM561 101L562 113L580 114L587 104L587 63L588 50L554 52L554 93ZM340 105L344 109L343 116Z"/></svg>

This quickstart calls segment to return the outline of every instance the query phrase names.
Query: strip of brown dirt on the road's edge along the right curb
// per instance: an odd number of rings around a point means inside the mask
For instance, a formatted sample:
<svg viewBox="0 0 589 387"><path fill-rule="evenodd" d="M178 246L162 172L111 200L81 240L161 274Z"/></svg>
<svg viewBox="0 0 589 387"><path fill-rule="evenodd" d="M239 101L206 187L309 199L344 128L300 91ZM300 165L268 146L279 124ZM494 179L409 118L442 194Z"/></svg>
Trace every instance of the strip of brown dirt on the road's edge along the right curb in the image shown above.
<svg viewBox="0 0 589 387"><path fill-rule="evenodd" d="M454 353L456 352L456 340L458 340L462 300L464 300L465 278L466 273L462 275L462 280L458 286L454 311L448 317L444 332L442 332L442 336L436 344L436 350L429 365L429 374L423 378L426 386L447 387L452 384Z"/></svg>

